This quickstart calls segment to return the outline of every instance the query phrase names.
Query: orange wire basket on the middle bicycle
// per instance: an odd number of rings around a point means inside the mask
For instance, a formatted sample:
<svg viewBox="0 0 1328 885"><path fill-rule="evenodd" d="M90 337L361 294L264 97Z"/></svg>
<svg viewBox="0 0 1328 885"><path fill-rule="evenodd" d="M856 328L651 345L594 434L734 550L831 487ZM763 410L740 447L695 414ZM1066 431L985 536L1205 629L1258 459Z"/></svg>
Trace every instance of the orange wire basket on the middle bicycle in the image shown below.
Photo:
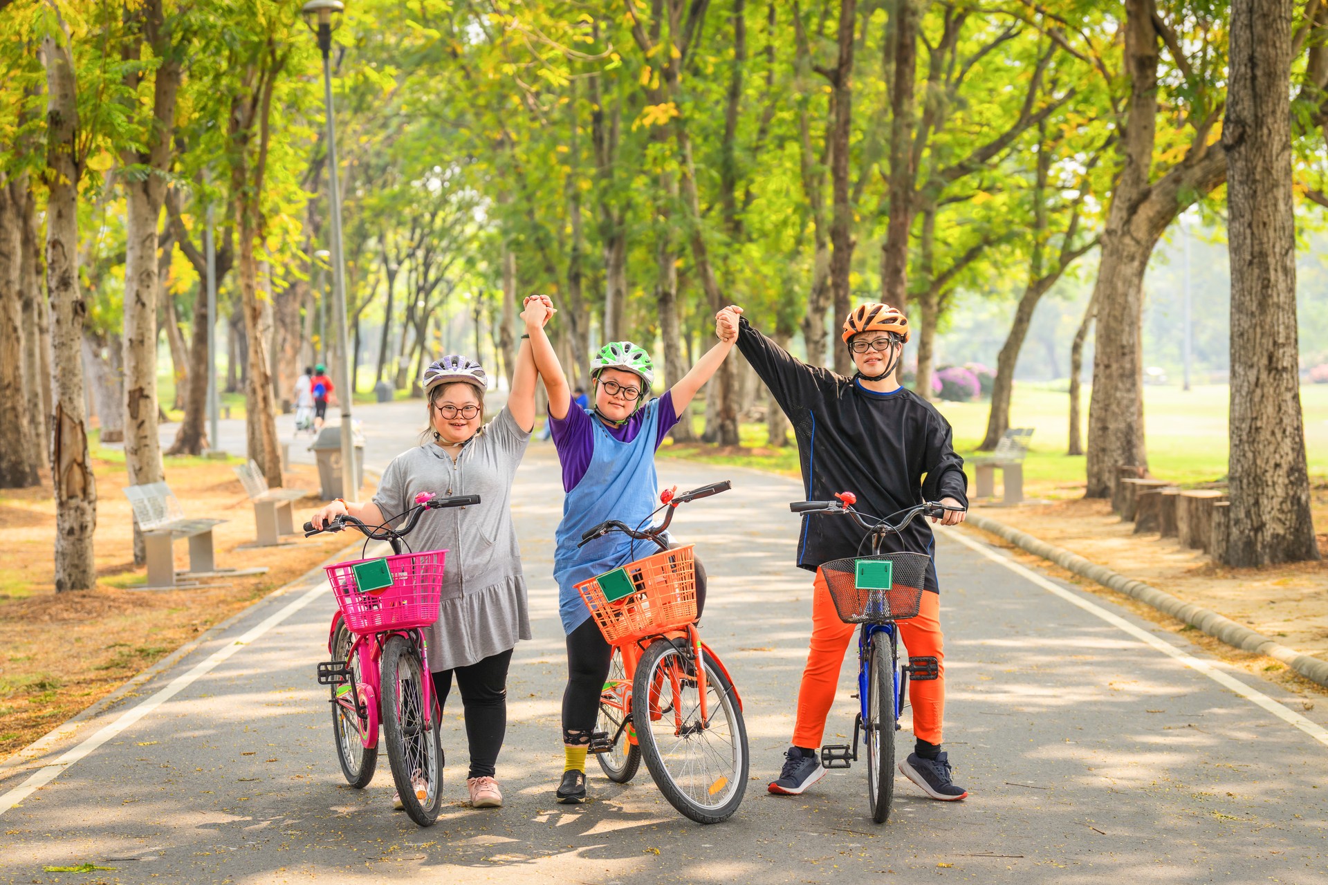
<svg viewBox="0 0 1328 885"><path fill-rule="evenodd" d="M604 596L599 585L603 576L576 585L606 642L623 645L696 620L696 557L692 544L628 563L623 571L633 589L614 601Z"/></svg>

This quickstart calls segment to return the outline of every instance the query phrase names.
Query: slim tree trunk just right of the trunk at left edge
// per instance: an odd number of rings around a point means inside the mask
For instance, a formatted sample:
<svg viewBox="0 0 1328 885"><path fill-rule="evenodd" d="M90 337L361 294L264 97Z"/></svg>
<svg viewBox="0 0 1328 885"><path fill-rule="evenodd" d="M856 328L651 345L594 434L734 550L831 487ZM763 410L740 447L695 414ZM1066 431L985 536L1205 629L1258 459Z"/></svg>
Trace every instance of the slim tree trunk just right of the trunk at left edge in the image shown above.
<svg viewBox="0 0 1328 885"><path fill-rule="evenodd" d="M50 415L50 328L48 305L41 292L40 260L41 239L37 235L36 198L32 194L32 179L23 198L23 228L20 231L23 255L19 261L19 289L23 299L23 377L27 406L32 422L32 452L29 458L39 471L50 468L50 452L46 444L50 438L48 425Z"/></svg>

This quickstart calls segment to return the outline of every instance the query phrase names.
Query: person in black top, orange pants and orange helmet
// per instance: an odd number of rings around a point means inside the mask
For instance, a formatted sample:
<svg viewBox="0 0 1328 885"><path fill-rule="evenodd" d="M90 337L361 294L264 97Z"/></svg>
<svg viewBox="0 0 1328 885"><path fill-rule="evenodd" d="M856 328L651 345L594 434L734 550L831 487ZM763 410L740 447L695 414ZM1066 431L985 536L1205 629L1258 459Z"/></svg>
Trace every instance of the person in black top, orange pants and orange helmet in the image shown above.
<svg viewBox="0 0 1328 885"><path fill-rule="evenodd" d="M793 423L807 500L831 500L837 492L851 491L858 495L857 507L876 516L923 500L968 506L964 462L951 444L950 423L930 402L899 386L899 358L908 341L903 313L884 304L865 304L849 313L842 337L857 368L851 378L791 357L741 313L728 306L716 321L737 333L738 350ZM951 511L943 521L963 520L963 511ZM811 650L798 690L793 746L769 787L772 793L798 795L825 778L817 748L855 625L839 620L819 565L857 556L861 541L850 520L803 517L798 567L815 572ZM932 556L934 544L931 527L914 520L902 535L886 536L884 552L894 545L895 552ZM935 564L931 568L931 584L939 586ZM935 681L908 683L916 743L899 770L932 799L964 799L968 792L954 784L950 758L940 748L946 670L939 593L923 593L918 617L896 625L910 655L934 657L940 666Z"/></svg>

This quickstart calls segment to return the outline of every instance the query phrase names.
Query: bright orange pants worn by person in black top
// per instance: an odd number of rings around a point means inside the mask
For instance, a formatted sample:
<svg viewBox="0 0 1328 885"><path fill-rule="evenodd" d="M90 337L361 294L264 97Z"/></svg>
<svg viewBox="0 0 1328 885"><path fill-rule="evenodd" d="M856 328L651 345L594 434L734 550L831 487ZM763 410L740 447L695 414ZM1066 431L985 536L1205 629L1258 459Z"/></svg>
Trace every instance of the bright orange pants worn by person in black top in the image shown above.
<svg viewBox="0 0 1328 885"><path fill-rule="evenodd" d="M939 744L942 720L946 716L946 655L940 636L940 596L923 593L918 617L899 621L895 626L910 655L934 657L940 665L940 675L936 679L908 681L914 735L927 743ZM830 715L835 687L839 685L843 655L857 628L857 624L845 624L839 620L826 580L821 569L817 569L811 593L811 651L807 653L807 667L802 671L802 687L798 689L798 720L793 730L793 746L809 750L821 746L826 716Z"/></svg>

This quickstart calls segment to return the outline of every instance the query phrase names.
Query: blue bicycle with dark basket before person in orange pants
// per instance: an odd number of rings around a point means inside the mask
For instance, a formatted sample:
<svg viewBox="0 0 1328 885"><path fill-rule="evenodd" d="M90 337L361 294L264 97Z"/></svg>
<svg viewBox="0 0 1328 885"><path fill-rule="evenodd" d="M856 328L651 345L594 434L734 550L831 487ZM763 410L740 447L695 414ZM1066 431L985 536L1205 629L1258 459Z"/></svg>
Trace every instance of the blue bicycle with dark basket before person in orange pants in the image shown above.
<svg viewBox="0 0 1328 885"><path fill-rule="evenodd" d="M858 630L858 694L861 710L853 723L851 744L821 747L826 768L850 768L858 762L859 740L867 746L867 799L871 819L890 819L895 785L895 731L903 713L908 679L919 682L940 677L940 662L931 657L899 661L899 632L895 621L916 617L923 592L935 590L931 557L924 553L882 553L886 535L898 535L918 516L942 517L946 507L934 502L918 504L887 519L859 513L853 492L841 492L833 502L794 502L794 513L839 513L851 516L871 540L870 556L831 560L821 565L835 612L845 624L861 624ZM892 517L902 517L891 523ZM861 548L861 545L859 545Z"/></svg>

